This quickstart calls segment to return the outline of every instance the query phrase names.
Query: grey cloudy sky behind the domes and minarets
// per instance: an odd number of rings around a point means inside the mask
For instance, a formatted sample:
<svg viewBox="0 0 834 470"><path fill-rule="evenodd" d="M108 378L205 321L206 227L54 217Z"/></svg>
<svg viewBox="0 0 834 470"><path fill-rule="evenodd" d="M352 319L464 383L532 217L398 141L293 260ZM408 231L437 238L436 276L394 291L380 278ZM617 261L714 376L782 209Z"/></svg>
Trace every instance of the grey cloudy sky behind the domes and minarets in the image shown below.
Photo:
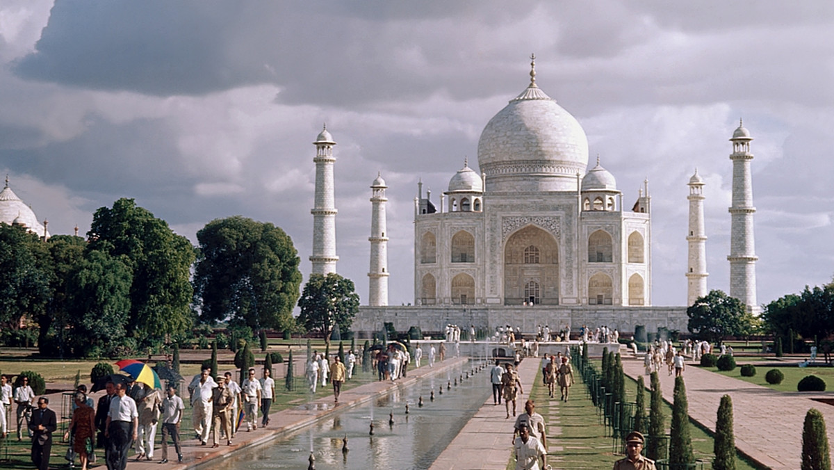
<svg viewBox="0 0 834 470"><path fill-rule="evenodd" d="M131 197L196 242L244 215L309 273L314 145L335 148L339 273L368 293L369 184L389 184L391 304L413 301L413 199L435 195L529 82L633 202L649 179L653 296L686 303L686 182L706 179L709 286L729 289L731 144L752 151L758 301L834 274L834 3L0 2L0 170L86 232ZM436 196L435 196L436 197Z"/></svg>

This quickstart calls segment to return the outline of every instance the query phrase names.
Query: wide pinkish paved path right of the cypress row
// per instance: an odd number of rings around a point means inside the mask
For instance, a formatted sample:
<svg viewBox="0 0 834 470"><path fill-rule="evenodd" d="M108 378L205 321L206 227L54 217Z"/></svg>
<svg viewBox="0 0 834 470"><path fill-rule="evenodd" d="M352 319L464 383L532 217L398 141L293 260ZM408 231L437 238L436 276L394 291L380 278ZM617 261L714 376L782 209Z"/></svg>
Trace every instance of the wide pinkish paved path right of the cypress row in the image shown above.
<svg viewBox="0 0 834 470"><path fill-rule="evenodd" d="M623 369L635 379L645 373L641 358L625 357ZM830 393L776 392L689 363L684 377L690 417L715 431L721 397L730 395L736 447L766 467L790 470L801 467L802 426L810 408L820 410L825 416L828 441L834 442L834 407L811 400L814 397L831 398ZM671 403L675 379L665 371L661 371L660 378L663 397ZM648 377L644 380L648 385Z"/></svg>

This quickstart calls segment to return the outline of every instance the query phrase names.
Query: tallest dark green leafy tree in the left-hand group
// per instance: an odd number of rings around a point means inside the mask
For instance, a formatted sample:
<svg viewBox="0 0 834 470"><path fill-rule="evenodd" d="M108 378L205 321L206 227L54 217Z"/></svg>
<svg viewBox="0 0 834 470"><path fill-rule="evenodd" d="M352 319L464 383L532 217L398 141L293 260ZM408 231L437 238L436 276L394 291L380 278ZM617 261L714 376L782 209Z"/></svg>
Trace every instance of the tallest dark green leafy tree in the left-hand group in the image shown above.
<svg viewBox="0 0 834 470"><path fill-rule="evenodd" d="M189 279L195 254L188 239L126 198L96 210L88 235L88 250L124 256L133 271L129 336L149 342L180 335L191 326Z"/></svg>

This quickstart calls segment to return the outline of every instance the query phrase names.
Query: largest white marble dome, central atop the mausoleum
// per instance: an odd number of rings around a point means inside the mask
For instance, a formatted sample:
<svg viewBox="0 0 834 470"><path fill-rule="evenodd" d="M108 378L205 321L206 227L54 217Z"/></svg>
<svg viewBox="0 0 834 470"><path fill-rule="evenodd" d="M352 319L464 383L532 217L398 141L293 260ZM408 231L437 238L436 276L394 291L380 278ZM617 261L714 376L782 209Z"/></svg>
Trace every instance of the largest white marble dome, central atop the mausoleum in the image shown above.
<svg viewBox="0 0 834 470"><path fill-rule="evenodd" d="M533 78L486 124L478 166L490 191L575 191L576 174L585 174L588 166L588 139Z"/></svg>

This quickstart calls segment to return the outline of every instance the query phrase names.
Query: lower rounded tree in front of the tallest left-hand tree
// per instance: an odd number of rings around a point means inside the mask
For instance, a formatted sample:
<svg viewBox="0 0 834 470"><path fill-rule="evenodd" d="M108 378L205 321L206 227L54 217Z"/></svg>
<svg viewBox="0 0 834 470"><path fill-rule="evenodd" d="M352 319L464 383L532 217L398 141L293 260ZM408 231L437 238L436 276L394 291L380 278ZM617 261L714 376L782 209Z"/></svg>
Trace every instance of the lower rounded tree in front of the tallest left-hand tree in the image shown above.
<svg viewBox="0 0 834 470"><path fill-rule="evenodd" d="M126 334L133 276L122 259L93 250L73 271L68 316L73 330L69 344L76 355L116 345Z"/></svg>

